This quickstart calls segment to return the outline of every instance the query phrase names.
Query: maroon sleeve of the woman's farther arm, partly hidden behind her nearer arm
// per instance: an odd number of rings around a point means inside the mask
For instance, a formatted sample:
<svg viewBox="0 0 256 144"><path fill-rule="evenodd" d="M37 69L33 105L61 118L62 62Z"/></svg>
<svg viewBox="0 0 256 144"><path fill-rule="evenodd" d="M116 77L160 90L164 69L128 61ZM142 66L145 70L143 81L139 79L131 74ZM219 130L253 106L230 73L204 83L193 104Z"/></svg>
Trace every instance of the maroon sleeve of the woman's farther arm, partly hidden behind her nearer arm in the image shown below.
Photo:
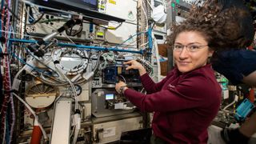
<svg viewBox="0 0 256 144"><path fill-rule="evenodd" d="M152 94L158 92L162 89L162 86L168 80L170 75L167 75L166 78L163 78L161 82L155 83L152 78L150 78L149 74L143 74L141 76L141 81L144 89L146 90L147 94Z"/></svg>

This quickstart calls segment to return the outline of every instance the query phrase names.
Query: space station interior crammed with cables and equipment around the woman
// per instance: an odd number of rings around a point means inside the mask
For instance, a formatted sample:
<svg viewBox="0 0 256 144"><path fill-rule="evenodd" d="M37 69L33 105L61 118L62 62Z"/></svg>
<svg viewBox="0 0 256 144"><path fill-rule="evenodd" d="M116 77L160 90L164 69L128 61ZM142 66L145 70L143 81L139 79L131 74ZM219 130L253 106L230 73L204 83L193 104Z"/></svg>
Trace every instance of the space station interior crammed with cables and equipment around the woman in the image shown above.
<svg viewBox="0 0 256 144"><path fill-rule="evenodd" d="M198 1L0 2L2 144L122 143L127 134L149 135L152 114L118 94L115 83L146 93L138 70L123 64L133 59L154 82L164 78L174 67L166 45L170 25L186 19ZM246 87L216 78L222 106L208 143L224 143L219 132L239 126L254 108Z"/></svg>

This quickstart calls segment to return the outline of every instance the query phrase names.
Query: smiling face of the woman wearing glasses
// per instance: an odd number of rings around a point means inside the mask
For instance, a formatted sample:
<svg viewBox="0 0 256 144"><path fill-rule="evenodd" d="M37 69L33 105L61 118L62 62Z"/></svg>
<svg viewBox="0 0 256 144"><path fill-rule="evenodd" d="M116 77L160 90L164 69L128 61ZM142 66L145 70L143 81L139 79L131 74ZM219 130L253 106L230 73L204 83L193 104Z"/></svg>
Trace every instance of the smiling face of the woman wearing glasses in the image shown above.
<svg viewBox="0 0 256 144"><path fill-rule="evenodd" d="M214 50L207 46L208 42L196 31L184 31L177 35L174 42L174 61L182 73L205 66L208 57Z"/></svg>

